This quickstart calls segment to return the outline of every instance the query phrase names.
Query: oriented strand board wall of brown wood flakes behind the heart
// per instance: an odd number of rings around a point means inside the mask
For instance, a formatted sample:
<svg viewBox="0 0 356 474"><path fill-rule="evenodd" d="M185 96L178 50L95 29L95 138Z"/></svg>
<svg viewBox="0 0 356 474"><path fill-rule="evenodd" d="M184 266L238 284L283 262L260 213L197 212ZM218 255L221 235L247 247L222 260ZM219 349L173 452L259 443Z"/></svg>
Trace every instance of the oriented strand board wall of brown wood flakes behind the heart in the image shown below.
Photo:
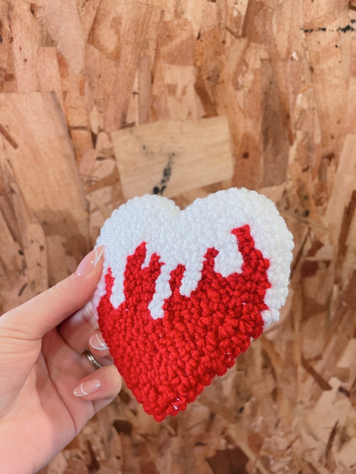
<svg viewBox="0 0 356 474"><path fill-rule="evenodd" d="M136 193L256 189L296 244L281 321L186 412L124 388L41 474L355 472L355 98L354 0L0 0L1 311Z"/></svg>

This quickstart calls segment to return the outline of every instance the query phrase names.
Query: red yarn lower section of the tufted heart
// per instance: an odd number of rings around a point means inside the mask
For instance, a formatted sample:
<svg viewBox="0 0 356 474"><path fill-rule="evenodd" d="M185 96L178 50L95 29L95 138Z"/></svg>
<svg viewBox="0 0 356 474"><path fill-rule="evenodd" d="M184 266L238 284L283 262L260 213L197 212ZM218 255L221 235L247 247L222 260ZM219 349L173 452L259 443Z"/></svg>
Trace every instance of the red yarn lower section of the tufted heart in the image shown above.
<svg viewBox="0 0 356 474"><path fill-rule="evenodd" d="M125 301L117 309L110 302L110 268L105 276L106 295L97 309L100 329L127 386L157 421L185 410L215 375L234 365L251 337L262 334L270 263L254 248L248 225L232 233L244 258L242 273L226 278L215 273L218 251L209 248L197 289L186 297L179 293L185 271L179 264L171 272L172 294L164 302L163 318L153 319L148 305L164 263L154 254L150 265L141 268L145 242L127 258Z"/></svg>

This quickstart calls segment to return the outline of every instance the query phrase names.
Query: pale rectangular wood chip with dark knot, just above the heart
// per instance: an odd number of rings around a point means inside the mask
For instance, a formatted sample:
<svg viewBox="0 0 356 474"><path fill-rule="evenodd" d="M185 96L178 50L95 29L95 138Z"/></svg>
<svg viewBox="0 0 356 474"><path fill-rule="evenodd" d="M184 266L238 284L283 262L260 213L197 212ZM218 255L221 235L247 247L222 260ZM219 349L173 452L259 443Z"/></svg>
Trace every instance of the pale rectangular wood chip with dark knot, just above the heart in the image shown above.
<svg viewBox="0 0 356 474"><path fill-rule="evenodd" d="M232 177L226 118L167 120L112 133L124 196L171 197Z"/></svg>

